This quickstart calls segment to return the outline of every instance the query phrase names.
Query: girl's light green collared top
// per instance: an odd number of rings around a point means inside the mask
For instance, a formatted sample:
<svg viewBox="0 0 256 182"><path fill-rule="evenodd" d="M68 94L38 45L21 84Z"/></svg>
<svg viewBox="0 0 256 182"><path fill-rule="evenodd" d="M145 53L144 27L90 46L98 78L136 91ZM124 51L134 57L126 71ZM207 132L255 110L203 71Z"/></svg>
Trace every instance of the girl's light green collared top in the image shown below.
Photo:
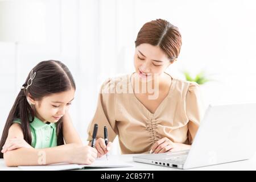
<svg viewBox="0 0 256 182"><path fill-rule="evenodd" d="M20 119L15 119L14 123L21 123ZM36 118L30 123L30 131L34 148L49 148L57 146L57 133L55 123L44 123Z"/></svg>

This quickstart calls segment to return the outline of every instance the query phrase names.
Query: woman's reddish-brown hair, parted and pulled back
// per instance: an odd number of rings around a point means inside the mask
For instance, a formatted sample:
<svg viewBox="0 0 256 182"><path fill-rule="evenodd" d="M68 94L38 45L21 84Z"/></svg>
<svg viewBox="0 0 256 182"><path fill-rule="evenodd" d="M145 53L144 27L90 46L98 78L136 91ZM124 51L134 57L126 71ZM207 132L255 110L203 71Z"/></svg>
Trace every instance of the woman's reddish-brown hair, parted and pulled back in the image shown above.
<svg viewBox="0 0 256 182"><path fill-rule="evenodd" d="M142 26L135 47L144 43L159 46L171 61L179 56L182 44L179 29L163 19L152 20Z"/></svg>

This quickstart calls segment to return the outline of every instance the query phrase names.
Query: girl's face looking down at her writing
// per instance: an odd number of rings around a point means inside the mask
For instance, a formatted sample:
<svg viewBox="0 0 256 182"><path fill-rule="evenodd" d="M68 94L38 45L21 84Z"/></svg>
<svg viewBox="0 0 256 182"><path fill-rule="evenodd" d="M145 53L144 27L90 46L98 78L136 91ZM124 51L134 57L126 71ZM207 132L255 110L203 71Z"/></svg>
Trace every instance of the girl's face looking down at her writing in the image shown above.
<svg viewBox="0 0 256 182"><path fill-rule="evenodd" d="M55 123L68 111L74 96L75 90L71 89L43 97L40 101L28 99L34 105L36 117L43 122Z"/></svg>

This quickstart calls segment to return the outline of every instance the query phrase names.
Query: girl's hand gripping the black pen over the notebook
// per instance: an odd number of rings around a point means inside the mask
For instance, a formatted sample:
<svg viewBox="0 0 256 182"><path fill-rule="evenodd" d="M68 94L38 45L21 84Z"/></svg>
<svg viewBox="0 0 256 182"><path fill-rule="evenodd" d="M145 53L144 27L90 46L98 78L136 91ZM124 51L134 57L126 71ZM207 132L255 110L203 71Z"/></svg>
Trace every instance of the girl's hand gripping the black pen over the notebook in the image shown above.
<svg viewBox="0 0 256 182"><path fill-rule="evenodd" d="M97 150L90 146L78 146L69 150L69 163L92 164L97 158Z"/></svg>

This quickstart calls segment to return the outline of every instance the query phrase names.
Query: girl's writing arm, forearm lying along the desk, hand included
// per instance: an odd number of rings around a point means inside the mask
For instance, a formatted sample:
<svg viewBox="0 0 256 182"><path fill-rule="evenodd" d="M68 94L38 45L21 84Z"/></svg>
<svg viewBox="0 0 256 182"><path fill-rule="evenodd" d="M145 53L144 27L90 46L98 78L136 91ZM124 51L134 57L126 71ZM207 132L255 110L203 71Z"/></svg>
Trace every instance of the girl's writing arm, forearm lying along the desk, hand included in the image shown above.
<svg viewBox="0 0 256 182"><path fill-rule="evenodd" d="M14 123L7 139L23 139L23 133L18 123ZM69 143L51 148L18 148L3 154L6 166L32 166L52 163L92 164L97 158L97 150L89 146Z"/></svg>

